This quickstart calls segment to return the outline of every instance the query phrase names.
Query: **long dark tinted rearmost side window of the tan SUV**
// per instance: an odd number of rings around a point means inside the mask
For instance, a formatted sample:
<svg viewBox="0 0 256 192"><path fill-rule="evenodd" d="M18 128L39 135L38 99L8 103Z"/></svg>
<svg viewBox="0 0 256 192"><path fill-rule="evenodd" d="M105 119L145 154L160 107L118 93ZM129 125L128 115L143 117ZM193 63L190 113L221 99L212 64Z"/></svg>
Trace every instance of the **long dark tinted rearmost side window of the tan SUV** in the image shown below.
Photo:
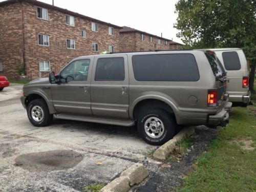
<svg viewBox="0 0 256 192"><path fill-rule="evenodd" d="M137 81L198 81L197 62L192 54L134 55Z"/></svg>

